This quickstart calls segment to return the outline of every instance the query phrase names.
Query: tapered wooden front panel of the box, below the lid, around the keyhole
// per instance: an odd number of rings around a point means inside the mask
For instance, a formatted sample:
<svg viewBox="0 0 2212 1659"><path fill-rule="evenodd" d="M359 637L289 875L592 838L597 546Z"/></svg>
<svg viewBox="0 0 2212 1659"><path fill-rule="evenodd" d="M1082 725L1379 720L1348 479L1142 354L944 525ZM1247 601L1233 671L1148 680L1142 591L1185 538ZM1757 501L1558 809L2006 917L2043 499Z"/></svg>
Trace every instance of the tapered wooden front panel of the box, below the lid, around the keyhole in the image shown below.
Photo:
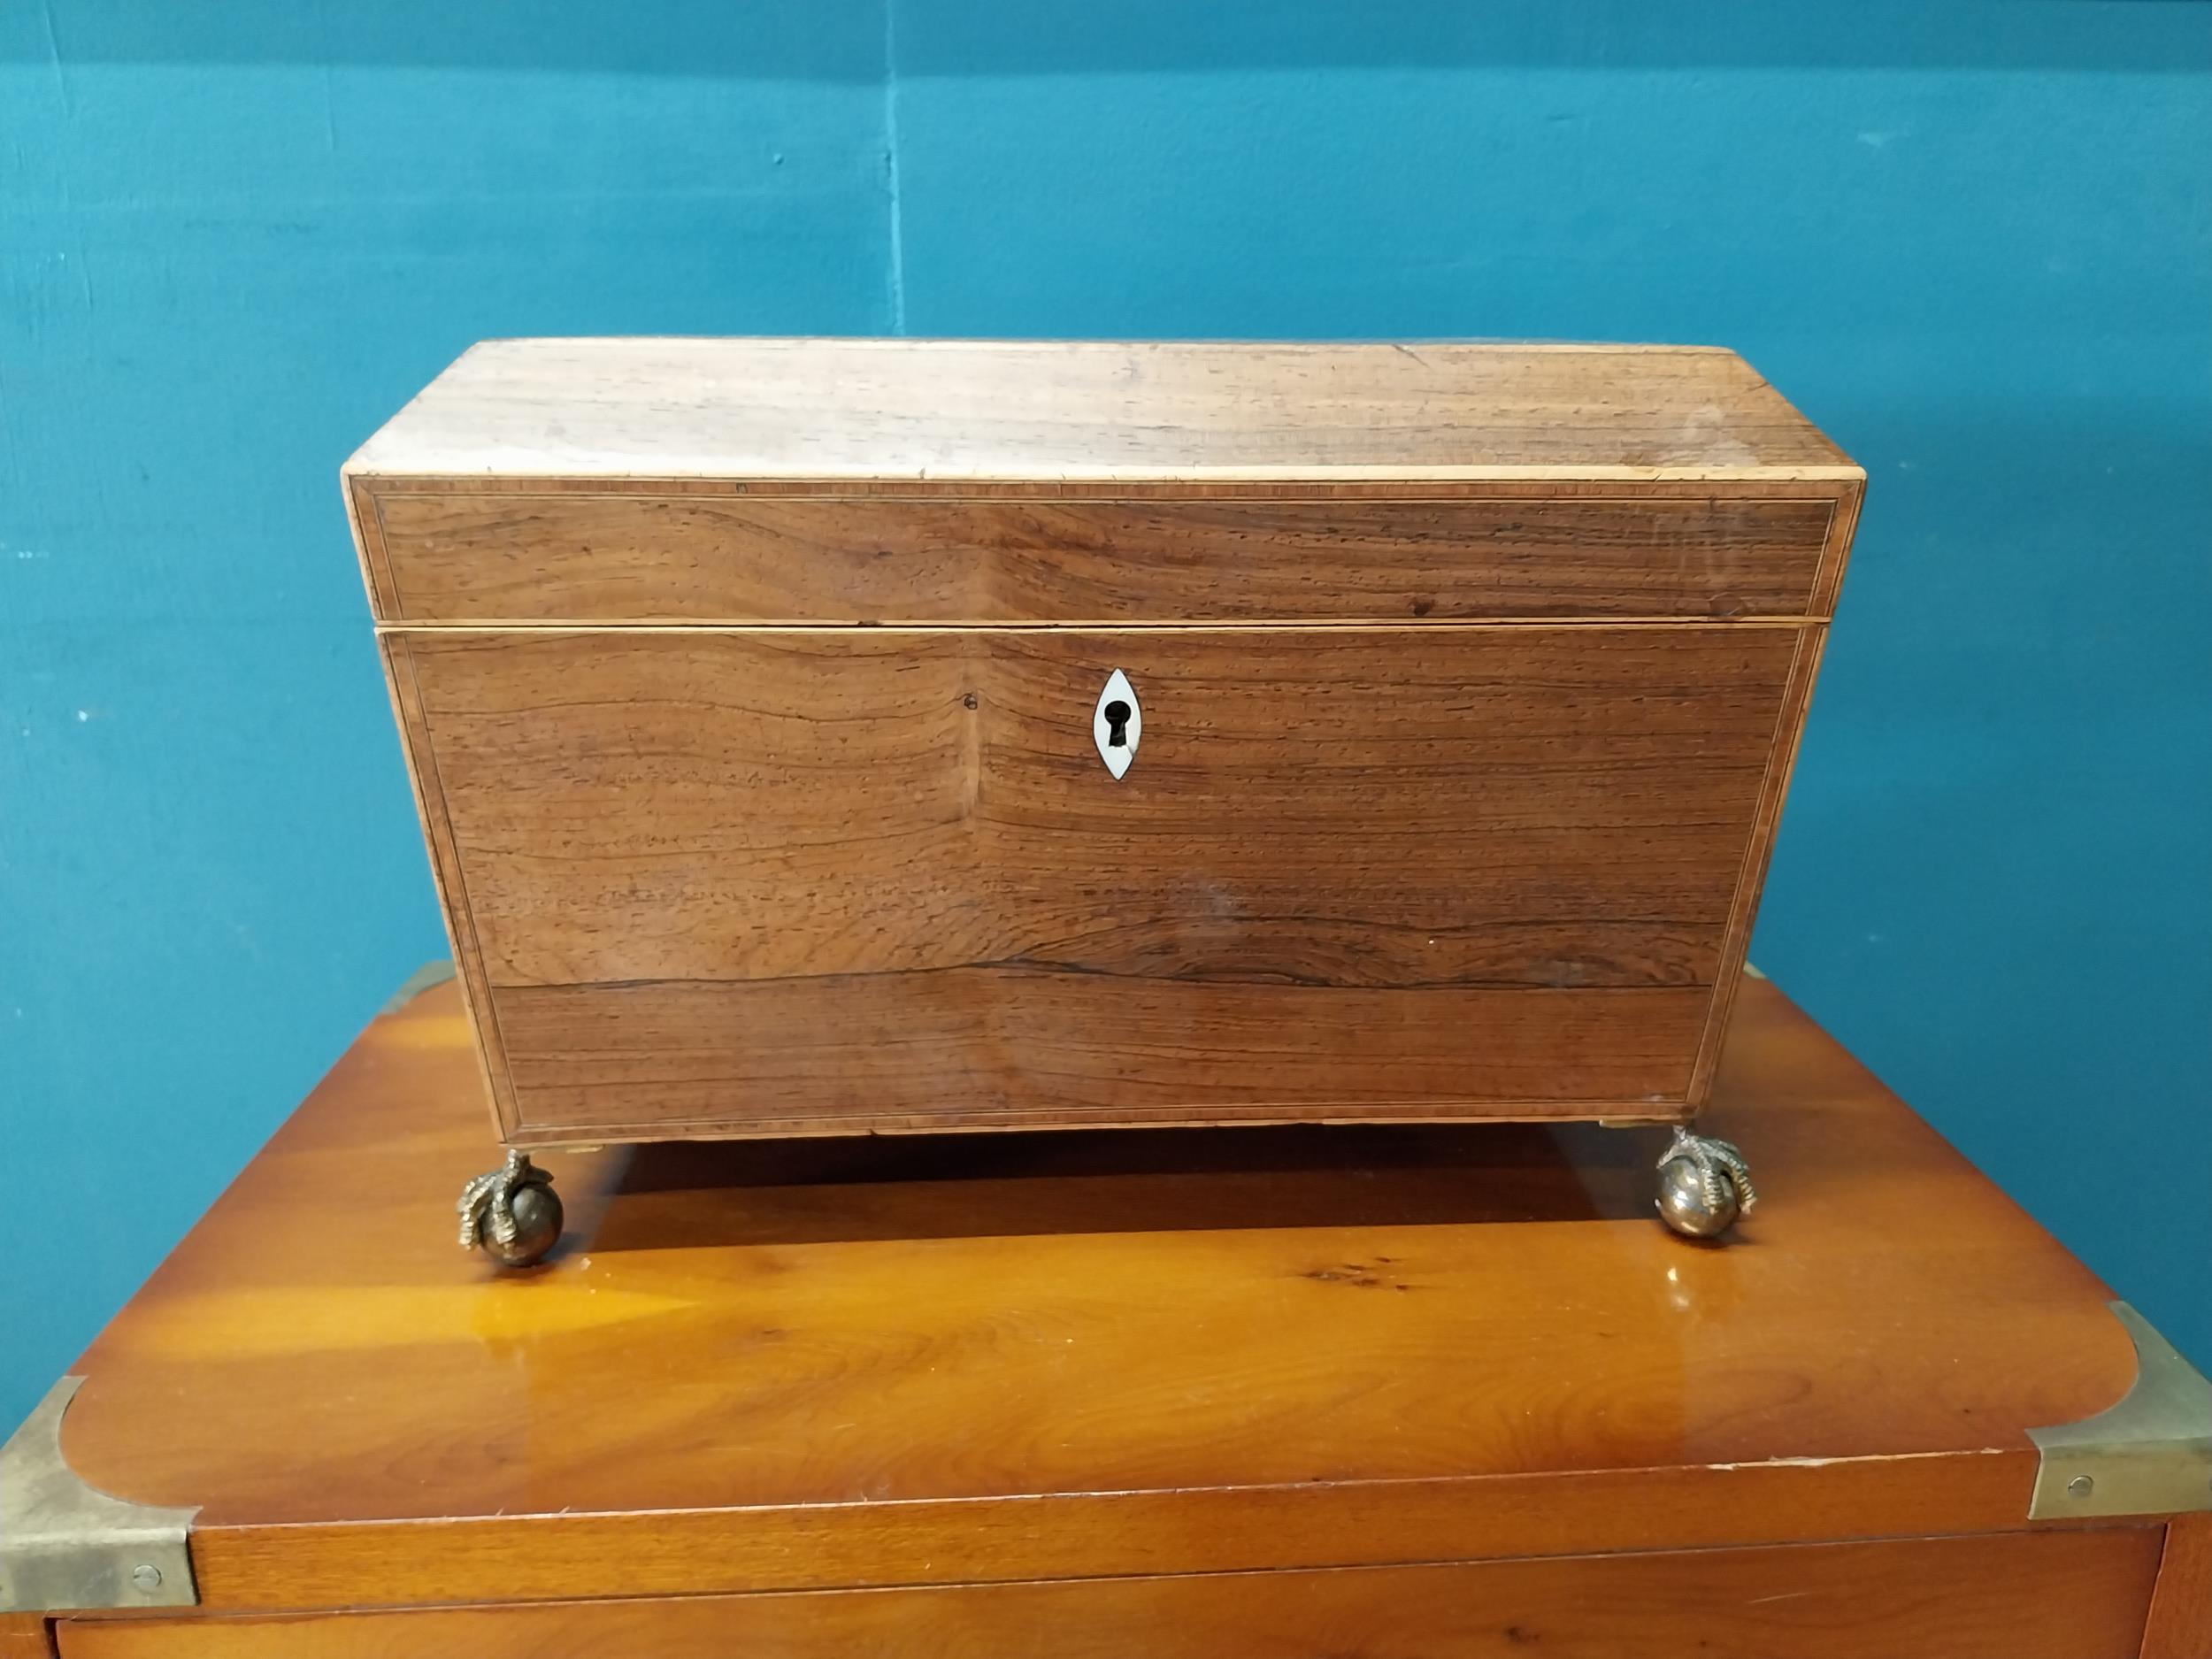
<svg viewBox="0 0 2212 1659"><path fill-rule="evenodd" d="M1801 630L392 648L544 1141L1674 1115Z"/></svg>

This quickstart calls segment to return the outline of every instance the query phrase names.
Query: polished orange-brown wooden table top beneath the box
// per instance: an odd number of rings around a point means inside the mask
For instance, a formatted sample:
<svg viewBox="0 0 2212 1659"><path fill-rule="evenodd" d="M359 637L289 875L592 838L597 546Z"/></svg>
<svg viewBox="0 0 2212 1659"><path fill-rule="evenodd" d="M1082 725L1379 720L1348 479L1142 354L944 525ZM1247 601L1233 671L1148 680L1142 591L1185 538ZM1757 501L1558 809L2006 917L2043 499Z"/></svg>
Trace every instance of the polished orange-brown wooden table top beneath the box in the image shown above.
<svg viewBox="0 0 2212 1659"><path fill-rule="evenodd" d="M75 1367L210 1606L927 1584L2024 1524L2108 1292L1772 984L1663 1137L1232 1128L611 1148L493 1274L453 984L380 1018Z"/></svg>

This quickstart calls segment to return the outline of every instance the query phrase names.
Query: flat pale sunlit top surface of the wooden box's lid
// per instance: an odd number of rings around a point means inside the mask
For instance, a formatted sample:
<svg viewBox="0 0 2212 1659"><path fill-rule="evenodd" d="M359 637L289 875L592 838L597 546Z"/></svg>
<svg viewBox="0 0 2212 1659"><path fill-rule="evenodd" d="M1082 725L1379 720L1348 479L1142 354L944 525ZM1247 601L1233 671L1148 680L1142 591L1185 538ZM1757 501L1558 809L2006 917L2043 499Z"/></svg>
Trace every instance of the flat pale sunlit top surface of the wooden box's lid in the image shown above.
<svg viewBox="0 0 2212 1659"><path fill-rule="evenodd" d="M465 352L347 476L1863 473L1721 347L540 338Z"/></svg>

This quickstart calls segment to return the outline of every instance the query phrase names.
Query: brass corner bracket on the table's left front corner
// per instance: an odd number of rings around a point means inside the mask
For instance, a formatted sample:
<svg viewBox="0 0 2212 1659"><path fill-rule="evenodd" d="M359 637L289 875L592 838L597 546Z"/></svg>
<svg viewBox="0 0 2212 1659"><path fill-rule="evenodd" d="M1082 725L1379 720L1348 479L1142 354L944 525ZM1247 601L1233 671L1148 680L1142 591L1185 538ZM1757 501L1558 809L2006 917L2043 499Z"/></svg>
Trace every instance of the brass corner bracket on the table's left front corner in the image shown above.
<svg viewBox="0 0 2212 1659"><path fill-rule="evenodd" d="M62 1458L80 1387L64 1376L0 1447L0 1613L197 1606L184 1540L199 1511L108 1498Z"/></svg>

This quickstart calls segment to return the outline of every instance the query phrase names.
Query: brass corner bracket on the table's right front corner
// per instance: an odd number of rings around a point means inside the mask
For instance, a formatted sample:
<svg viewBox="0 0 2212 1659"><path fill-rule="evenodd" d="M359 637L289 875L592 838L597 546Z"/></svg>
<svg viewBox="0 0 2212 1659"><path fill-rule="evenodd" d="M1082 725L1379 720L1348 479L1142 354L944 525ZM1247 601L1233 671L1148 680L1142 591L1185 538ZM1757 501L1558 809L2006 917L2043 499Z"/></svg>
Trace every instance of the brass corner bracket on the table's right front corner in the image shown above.
<svg viewBox="0 0 2212 1659"><path fill-rule="evenodd" d="M2212 1511L2212 1383L2128 1303L2135 1387L2079 1422L2028 1429L2042 1453L2028 1520Z"/></svg>

